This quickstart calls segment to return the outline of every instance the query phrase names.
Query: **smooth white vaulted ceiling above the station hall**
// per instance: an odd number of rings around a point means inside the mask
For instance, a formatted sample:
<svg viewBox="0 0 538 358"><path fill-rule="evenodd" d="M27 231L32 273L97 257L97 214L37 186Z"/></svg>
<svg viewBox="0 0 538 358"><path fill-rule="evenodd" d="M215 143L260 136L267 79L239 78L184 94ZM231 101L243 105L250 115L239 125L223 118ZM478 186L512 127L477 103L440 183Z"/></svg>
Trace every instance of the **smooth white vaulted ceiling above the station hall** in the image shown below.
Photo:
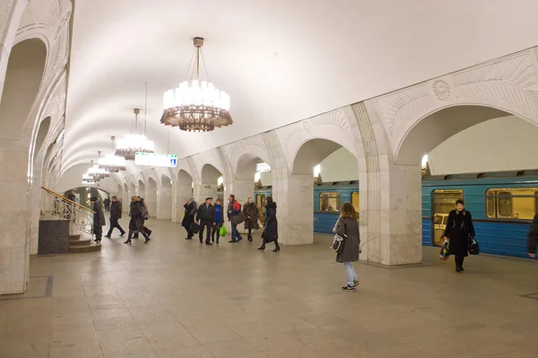
<svg viewBox="0 0 538 358"><path fill-rule="evenodd" d="M536 45L535 0L76 0L63 171L112 152L149 86L147 134L166 152L162 93L204 37L234 125L170 130L186 157ZM143 116L141 116L143 118ZM133 169L134 167L131 166Z"/></svg>

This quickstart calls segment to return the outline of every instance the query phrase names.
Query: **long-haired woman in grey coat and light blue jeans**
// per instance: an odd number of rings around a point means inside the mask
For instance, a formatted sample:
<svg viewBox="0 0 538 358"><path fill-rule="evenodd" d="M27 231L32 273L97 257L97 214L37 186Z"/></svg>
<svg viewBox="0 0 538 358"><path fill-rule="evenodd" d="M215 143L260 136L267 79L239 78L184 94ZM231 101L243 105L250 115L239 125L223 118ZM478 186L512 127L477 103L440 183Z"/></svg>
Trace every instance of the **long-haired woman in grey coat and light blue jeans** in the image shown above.
<svg viewBox="0 0 538 358"><path fill-rule="evenodd" d="M334 233L342 236L343 250L336 254L336 262L340 262L345 267L347 275L347 285L342 289L345 291L355 291L355 286L359 284L357 273L351 262L359 261L360 231L358 215L351 203L343 203L340 207L340 217L334 225Z"/></svg>

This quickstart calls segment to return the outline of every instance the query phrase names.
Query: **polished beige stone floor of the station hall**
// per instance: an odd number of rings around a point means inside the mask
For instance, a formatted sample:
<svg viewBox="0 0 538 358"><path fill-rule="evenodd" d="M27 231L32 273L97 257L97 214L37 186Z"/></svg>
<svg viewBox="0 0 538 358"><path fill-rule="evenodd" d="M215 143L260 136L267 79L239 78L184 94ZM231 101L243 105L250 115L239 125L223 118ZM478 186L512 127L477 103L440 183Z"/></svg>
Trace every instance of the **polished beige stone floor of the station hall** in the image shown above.
<svg viewBox="0 0 538 358"><path fill-rule="evenodd" d="M538 356L536 262L456 274L425 249L420 266L357 264L352 293L324 235L275 254L148 226L149 244L115 232L98 253L31 258L28 292L0 296L0 357Z"/></svg>

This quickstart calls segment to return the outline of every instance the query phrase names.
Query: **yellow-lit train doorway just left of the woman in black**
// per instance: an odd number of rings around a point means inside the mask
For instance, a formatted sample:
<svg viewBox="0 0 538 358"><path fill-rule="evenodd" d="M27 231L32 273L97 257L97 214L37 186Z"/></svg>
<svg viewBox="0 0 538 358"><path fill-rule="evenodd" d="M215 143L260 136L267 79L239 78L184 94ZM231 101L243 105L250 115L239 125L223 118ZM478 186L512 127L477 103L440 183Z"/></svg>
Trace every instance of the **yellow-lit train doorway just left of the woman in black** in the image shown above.
<svg viewBox="0 0 538 358"><path fill-rule="evenodd" d="M431 243L442 245L447 227L448 213L456 208L456 200L464 198L462 189L434 190L432 193Z"/></svg>

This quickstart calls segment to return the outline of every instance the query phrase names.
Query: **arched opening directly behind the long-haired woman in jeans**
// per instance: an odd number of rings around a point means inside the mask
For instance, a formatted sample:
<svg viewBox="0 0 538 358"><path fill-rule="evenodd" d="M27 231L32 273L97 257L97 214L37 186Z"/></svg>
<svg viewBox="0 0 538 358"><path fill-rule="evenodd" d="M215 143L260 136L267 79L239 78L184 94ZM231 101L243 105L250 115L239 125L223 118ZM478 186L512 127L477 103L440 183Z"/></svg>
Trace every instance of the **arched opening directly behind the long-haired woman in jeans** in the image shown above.
<svg viewBox="0 0 538 358"><path fill-rule="evenodd" d="M300 180L300 203L305 231L332 233L340 205L350 202L359 211L359 162L356 153L327 139L311 139L299 147L291 175Z"/></svg>

